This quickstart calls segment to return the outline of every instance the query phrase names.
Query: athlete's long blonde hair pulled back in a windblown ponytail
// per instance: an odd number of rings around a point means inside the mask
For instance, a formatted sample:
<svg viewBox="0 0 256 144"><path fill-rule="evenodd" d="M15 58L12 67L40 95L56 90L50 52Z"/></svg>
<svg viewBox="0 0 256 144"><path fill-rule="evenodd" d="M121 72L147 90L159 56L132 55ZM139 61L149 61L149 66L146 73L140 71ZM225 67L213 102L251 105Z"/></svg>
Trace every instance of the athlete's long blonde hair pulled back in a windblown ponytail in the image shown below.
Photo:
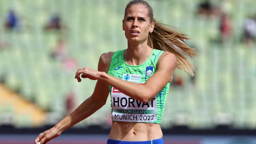
<svg viewBox="0 0 256 144"><path fill-rule="evenodd" d="M143 0L132 0L130 1L125 8L126 10L133 5L144 5L148 9L148 16L151 22L155 23L155 28L152 33L148 35L148 46L154 49L168 51L175 55L177 59L177 68L188 72L191 76L194 75L195 68L191 62L187 59L184 53L193 59L194 56L197 56L196 50L190 48L185 40L191 39L185 34L180 34L175 27L156 21L153 16L152 7ZM175 29L175 30L174 30ZM178 48L175 48L175 47ZM182 51L181 51L182 50Z"/></svg>

